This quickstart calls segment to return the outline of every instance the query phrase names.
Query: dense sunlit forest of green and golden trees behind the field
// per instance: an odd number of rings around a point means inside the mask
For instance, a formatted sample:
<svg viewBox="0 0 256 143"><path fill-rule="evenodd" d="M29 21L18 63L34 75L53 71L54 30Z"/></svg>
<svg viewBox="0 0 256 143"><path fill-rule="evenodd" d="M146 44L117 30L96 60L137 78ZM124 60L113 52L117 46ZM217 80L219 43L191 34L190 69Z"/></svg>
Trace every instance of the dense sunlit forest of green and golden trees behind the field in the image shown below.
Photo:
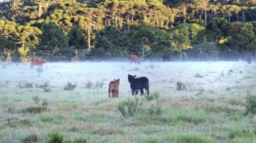
<svg viewBox="0 0 256 143"><path fill-rule="evenodd" d="M4 0L0 58L244 60L255 20L255 0Z"/></svg>

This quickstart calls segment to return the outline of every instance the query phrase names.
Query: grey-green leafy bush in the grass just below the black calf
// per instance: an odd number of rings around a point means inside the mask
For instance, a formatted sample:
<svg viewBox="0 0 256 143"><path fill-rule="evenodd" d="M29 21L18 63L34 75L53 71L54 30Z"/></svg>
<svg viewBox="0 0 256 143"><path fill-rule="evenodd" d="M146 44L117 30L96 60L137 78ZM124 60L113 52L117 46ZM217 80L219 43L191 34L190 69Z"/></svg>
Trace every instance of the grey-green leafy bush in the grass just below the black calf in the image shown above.
<svg viewBox="0 0 256 143"><path fill-rule="evenodd" d="M135 114L140 112L144 101L144 97L127 98L126 100L118 103L116 108L124 117L133 117Z"/></svg>

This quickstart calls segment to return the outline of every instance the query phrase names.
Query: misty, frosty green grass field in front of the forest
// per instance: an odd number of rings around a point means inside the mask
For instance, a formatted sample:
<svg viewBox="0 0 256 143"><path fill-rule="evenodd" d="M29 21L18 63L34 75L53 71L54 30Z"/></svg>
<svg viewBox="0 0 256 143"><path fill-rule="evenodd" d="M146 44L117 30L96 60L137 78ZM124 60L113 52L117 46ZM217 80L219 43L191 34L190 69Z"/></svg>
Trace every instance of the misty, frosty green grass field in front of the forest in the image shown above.
<svg viewBox="0 0 256 143"><path fill-rule="evenodd" d="M255 95L256 64L246 62L80 62L0 64L1 142L256 142L256 117L246 115ZM128 74L148 77L150 96L135 100ZM120 79L119 98L108 84ZM67 83L76 85L68 91ZM140 93L139 93L140 95ZM156 96L157 95L157 96Z"/></svg>

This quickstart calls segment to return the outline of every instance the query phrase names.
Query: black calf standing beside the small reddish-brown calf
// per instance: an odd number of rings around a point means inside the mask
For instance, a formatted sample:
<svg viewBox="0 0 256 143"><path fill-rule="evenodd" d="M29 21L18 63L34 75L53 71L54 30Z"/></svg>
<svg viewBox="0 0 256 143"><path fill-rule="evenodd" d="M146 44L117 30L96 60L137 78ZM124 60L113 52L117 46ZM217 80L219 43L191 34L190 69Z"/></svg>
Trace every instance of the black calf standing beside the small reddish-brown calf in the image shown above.
<svg viewBox="0 0 256 143"><path fill-rule="evenodd" d="M143 89L146 89L146 94L149 96L149 85L148 85L148 78L146 77L139 77L135 78L136 75L129 75L128 74L128 81L130 83L131 87L131 95L134 96L138 94L138 91L140 90L140 94L143 96L144 92Z"/></svg>

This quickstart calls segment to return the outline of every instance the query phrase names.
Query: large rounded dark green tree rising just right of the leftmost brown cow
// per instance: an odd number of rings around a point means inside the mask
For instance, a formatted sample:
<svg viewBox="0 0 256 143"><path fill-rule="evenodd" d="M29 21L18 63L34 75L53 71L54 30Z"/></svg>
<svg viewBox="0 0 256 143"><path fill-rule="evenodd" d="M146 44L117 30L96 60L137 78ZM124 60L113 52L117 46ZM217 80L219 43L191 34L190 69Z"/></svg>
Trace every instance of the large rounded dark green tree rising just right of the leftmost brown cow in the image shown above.
<svg viewBox="0 0 256 143"><path fill-rule="evenodd" d="M42 24L41 30L37 56L50 60L67 60L74 55L74 49L69 47L68 37L63 33L63 28L50 21Z"/></svg>

